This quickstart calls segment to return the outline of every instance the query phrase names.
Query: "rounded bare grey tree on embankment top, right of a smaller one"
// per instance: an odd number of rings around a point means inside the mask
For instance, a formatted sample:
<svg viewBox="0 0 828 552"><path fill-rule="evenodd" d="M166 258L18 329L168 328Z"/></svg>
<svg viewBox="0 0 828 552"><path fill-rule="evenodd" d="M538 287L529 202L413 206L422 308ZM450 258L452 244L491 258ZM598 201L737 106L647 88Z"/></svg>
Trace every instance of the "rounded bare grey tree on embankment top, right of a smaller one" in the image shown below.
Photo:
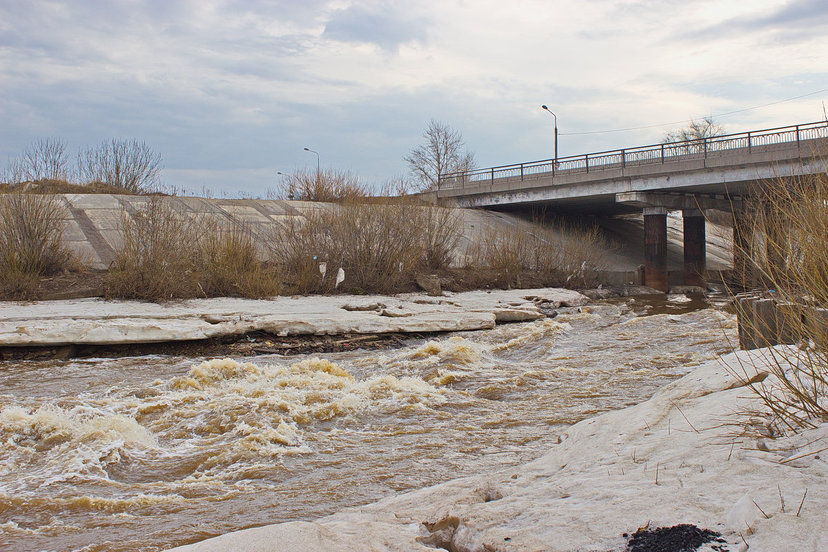
<svg viewBox="0 0 828 552"><path fill-rule="evenodd" d="M78 154L80 180L103 182L133 193L158 188L163 168L161 154L137 140L113 138Z"/></svg>

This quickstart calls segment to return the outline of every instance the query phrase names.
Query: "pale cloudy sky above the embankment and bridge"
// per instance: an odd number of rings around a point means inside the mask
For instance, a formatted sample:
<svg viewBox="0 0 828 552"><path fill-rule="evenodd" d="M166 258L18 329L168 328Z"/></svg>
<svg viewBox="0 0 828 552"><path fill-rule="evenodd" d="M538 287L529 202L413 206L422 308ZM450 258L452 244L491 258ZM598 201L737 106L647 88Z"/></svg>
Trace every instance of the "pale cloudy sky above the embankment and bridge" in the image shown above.
<svg viewBox="0 0 828 552"><path fill-rule="evenodd" d="M479 166L661 141L828 89L826 0L0 0L0 166L42 137L159 151L167 184L407 172L431 118ZM718 121L823 120L828 92Z"/></svg>

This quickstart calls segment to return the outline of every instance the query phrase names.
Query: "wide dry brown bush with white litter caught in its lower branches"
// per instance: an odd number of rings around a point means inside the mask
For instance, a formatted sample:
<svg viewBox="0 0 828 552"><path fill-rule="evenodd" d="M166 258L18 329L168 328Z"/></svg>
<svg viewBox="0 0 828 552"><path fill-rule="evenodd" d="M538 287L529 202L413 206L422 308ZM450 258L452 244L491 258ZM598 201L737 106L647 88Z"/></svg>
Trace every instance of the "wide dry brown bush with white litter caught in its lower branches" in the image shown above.
<svg viewBox="0 0 828 552"><path fill-rule="evenodd" d="M447 267L459 240L451 209L396 200L315 209L280 223L268 242L296 293L394 293L410 287L418 271ZM339 268L345 280L336 286Z"/></svg>

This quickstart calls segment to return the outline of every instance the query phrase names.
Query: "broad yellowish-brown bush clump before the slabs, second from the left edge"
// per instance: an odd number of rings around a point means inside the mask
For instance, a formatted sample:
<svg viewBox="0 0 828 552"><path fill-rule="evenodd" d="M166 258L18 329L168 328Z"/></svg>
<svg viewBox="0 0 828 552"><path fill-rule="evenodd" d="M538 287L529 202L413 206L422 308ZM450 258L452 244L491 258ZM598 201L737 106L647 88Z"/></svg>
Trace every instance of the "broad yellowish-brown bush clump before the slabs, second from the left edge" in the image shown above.
<svg viewBox="0 0 828 552"><path fill-rule="evenodd" d="M176 300L277 295L277 279L258 260L243 228L190 216L154 197L123 214L123 247L109 270L107 297Z"/></svg>

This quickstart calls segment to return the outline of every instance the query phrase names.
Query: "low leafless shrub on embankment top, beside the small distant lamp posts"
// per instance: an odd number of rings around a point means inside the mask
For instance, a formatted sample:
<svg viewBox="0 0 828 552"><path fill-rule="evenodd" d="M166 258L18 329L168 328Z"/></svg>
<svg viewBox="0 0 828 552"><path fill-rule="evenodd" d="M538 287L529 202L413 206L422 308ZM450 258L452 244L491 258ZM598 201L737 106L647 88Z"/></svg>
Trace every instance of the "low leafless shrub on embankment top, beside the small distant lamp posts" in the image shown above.
<svg viewBox="0 0 828 552"><path fill-rule="evenodd" d="M371 195L359 176L348 170L295 170L280 185L279 199L342 203ZM270 195L268 198L270 199ZM276 196L273 196L276 199Z"/></svg>

